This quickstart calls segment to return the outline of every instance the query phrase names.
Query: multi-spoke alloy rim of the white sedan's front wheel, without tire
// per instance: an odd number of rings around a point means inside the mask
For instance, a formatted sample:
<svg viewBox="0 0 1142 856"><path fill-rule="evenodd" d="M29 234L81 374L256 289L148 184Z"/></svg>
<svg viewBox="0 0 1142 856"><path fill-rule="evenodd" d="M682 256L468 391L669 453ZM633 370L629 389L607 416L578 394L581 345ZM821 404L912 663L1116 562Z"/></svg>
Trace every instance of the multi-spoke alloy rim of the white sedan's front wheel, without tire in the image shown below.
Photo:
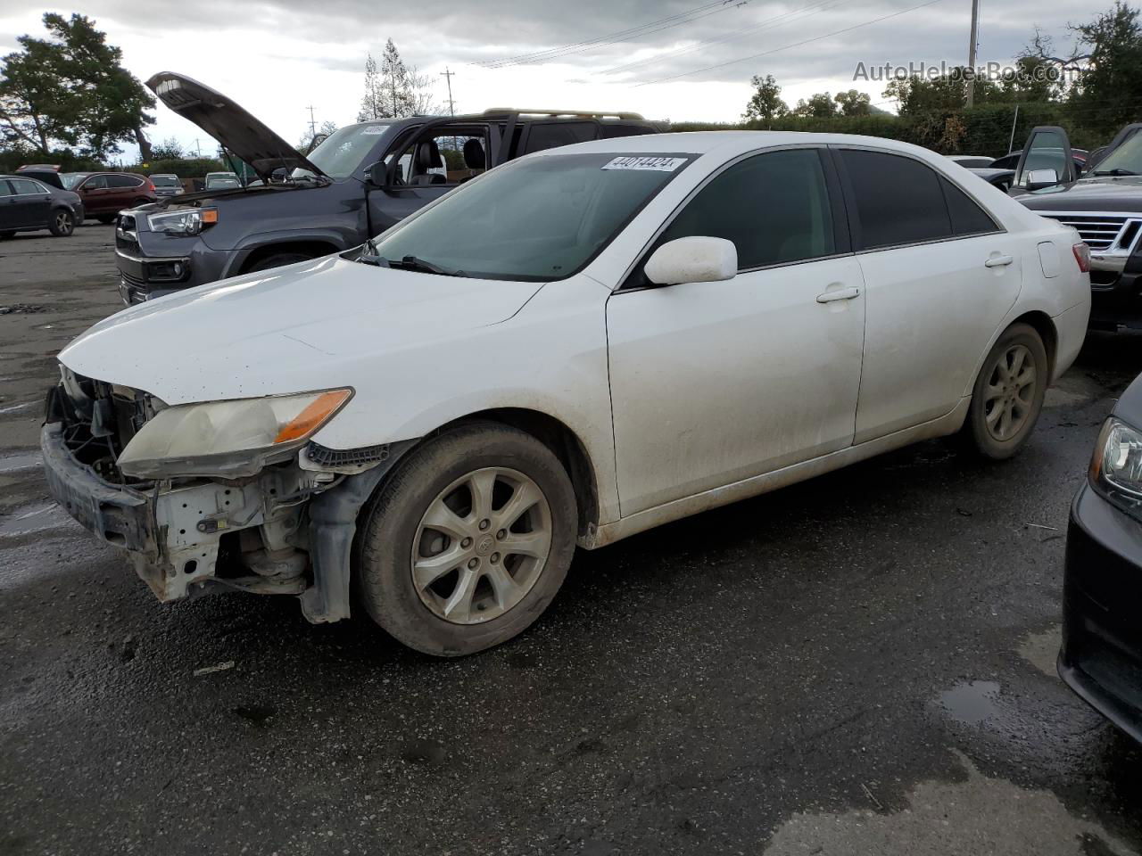
<svg viewBox="0 0 1142 856"><path fill-rule="evenodd" d="M412 584L437 617L478 624L523 600L550 549L552 512L539 485L484 467L428 503L412 540Z"/></svg>

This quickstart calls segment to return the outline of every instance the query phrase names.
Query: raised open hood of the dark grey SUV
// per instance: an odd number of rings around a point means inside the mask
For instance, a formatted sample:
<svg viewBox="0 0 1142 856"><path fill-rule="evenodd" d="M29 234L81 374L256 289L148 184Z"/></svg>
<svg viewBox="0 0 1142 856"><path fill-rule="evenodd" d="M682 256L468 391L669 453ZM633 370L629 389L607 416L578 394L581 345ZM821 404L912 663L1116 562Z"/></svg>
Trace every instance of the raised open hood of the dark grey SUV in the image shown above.
<svg viewBox="0 0 1142 856"><path fill-rule="evenodd" d="M325 175L222 92L175 72L159 72L146 84L163 104L250 164L263 181L268 181L273 171L282 167Z"/></svg>

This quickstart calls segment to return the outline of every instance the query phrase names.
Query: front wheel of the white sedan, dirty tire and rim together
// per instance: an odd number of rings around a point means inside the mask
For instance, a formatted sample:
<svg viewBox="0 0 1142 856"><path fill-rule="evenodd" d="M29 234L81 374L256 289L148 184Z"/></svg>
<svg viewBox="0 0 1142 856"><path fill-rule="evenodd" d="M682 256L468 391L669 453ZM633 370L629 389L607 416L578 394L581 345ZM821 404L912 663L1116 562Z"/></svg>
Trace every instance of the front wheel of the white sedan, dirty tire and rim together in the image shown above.
<svg viewBox="0 0 1142 856"><path fill-rule="evenodd" d="M522 632L574 552L574 492L542 443L496 423L411 453L362 515L361 600L409 647L461 656Z"/></svg>

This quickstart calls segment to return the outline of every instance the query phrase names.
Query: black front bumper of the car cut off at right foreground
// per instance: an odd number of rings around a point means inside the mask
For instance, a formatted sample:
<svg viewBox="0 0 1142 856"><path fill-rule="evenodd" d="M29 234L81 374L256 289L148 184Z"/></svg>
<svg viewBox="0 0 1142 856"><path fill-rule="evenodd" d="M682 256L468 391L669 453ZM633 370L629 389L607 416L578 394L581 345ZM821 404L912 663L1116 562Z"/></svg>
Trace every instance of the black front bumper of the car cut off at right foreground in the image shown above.
<svg viewBox="0 0 1142 856"><path fill-rule="evenodd" d="M1142 742L1142 523L1084 484L1071 504L1059 676Z"/></svg>

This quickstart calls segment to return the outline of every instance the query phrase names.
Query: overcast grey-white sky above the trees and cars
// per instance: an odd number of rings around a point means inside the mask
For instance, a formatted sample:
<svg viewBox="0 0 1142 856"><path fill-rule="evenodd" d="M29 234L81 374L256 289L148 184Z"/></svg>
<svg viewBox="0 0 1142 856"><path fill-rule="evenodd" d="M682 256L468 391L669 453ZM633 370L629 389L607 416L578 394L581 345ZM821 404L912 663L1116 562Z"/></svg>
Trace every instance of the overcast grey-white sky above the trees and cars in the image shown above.
<svg viewBox="0 0 1142 856"><path fill-rule="evenodd" d="M883 82L853 81L858 63L966 60L971 0L912 8L924 1L87 0L49 8L95 18L139 79L187 74L296 142L309 105L319 124L355 120L365 54L379 55L388 38L408 64L431 75L444 112L445 66L456 73L457 112L634 110L652 119L735 121L749 78L766 73L790 105L815 91L856 88L893 110ZM1068 22L1085 22L1103 6L1110 0L1093 7L982 0L979 62L1010 62L1036 26L1068 43ZM22 33L42 34L43 11L27 0L0 0L0 51L15 49ZM581 42L592 43L557 50ZM486 66L540 51L549 51L542 62ZM199 138L207 150L206 135L166 107L156 119L153 139L174 136L193 146Z"/></svg>

